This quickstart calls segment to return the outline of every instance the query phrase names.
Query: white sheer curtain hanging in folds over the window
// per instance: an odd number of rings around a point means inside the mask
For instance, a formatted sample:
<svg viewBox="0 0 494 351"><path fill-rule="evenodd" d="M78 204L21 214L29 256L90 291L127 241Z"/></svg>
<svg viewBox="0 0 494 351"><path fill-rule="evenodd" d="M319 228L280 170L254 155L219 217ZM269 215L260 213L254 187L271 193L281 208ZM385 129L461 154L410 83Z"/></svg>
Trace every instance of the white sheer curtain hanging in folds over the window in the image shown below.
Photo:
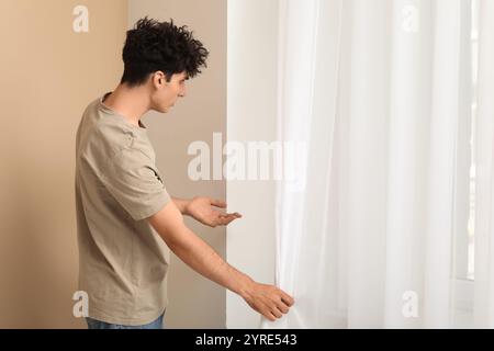
<svg viewBox="0 0 494 351"><path fill-rule="evenodd" d="M266 328L445 328L467 227L470 0L281 0L278 136L306 144L277 188ZM494 1L480 0L475 326L494 325Z"/></svg>

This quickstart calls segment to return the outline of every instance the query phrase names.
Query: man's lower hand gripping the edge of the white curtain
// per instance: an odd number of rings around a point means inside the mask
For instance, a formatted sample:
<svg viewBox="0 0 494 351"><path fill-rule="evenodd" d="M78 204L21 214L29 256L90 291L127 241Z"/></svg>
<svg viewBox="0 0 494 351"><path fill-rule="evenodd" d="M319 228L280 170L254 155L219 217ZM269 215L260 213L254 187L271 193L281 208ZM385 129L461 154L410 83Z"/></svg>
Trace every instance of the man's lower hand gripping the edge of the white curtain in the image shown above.
<svg viewBox="0 0 494 351"><path fill-rule="evenodd" d="M288 314L294 304L292 296L273 286L251 282L250 286L242 294L246 303L259 314L271 321Z"/></svg>

